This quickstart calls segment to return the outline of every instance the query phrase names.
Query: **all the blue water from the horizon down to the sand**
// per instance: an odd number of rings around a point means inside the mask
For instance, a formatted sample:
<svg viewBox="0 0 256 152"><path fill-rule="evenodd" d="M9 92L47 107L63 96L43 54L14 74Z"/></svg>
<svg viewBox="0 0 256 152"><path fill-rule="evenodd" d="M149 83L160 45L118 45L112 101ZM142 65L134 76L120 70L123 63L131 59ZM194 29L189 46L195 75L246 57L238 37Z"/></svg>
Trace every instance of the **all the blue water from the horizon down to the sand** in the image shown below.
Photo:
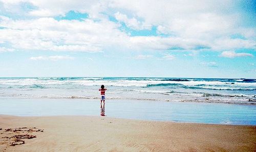
<svg viewBox="0 0 256 152"><path fill-rule="evenodd" d="M242 78L0 78L0 114L100 116L101 84L107 117L256 125L256 80Z"/></svg>

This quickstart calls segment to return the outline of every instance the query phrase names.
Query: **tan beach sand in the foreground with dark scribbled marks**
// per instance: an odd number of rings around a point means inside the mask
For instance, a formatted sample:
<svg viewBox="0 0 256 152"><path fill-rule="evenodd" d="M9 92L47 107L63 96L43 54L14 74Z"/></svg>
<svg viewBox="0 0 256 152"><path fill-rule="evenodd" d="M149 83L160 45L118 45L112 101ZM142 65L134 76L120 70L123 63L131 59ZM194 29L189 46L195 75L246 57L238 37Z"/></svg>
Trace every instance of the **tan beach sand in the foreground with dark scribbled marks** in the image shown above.
<svg viewBox="0 0 256 152"><path fill-rule="evenodd" d="M256 151L256 126L0 115L0 151Z"/></svg>

